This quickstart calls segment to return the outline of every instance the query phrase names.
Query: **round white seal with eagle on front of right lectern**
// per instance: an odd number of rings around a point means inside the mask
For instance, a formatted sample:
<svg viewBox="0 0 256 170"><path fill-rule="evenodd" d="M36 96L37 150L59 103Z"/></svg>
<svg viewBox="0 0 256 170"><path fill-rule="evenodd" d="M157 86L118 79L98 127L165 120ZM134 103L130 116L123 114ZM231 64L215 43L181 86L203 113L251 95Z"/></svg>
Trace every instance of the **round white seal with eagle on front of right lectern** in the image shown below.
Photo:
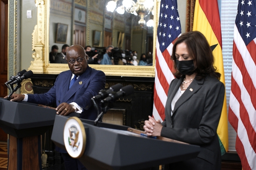
<svg viewBox="0 0 256 170"><path fill-rule="evenodd" d="M84 125L77 117L70 117L64 127L64 144L72 158L80 158L84 154L86 134Z"/></svg>

